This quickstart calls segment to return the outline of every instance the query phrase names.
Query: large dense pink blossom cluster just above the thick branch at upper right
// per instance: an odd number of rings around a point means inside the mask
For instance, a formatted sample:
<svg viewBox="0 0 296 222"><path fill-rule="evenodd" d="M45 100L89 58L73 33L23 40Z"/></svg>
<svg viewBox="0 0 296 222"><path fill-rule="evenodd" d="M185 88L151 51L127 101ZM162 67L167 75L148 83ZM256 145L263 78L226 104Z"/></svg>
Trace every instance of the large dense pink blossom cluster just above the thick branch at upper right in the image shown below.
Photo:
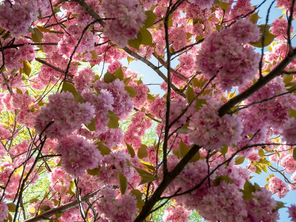
<svg viewBox="0 0 296 222"><path fill-rule="evenodd" d="M245 45L257 41L259 27L249 20L238 20L207 37L196 58L198 69L209 77L219 73L222 90L243 86L258 71L259 53Z"/></svg>

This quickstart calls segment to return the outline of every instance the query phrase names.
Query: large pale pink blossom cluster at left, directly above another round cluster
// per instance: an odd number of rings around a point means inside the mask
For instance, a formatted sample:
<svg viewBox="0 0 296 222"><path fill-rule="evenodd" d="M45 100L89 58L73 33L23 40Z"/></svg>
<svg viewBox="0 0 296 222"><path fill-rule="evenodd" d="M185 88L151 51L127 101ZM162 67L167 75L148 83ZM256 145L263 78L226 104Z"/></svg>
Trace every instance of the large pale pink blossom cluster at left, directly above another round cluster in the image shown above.
<svg viewBox="0 0 296 222"><path fill-rule="evenodd" d="M46 127L45 134L49 138L59 138L69 135L88 124L94 117L95 109L90 103L75 103L74 95L67 92L56 93L48 97L46 104L37 115L35 129L41 133ZM54 121L52 124L51 122Z"/></svg>

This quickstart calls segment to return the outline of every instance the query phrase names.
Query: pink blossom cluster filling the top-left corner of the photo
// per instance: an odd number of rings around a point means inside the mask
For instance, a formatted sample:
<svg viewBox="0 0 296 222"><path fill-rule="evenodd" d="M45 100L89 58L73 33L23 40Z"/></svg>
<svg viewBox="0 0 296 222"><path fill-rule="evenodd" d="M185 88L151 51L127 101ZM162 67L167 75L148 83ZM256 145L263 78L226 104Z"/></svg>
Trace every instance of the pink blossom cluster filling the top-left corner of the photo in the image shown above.
<svg viewBox="0 0 296 222"><path fill-rule="evenodd" d="M39 12L45 16L51 12L49 10L47 0L14 0L13 5L5 0L0 5L0 27L9 31L12 37L26 36L31 23L38 19Z"/></svg>

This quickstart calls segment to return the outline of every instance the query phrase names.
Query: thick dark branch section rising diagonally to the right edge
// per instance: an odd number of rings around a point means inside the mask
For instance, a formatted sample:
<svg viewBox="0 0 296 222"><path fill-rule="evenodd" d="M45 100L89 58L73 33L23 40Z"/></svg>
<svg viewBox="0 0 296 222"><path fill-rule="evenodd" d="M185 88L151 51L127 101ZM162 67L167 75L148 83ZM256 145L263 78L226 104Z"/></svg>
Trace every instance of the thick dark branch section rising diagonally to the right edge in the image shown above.
<svg viewBox="0 0 296 222"><path fill-rule="evenodd" d="M237 95L236 97L229 100L227 103L225 103L219 111L219 115L223 116L226 114L235 104L238 104L242 102L243 100L247 99L249 96L251 96L253 93L257 92L260 88L262 88L264 85L266 85L268 82L270 82L273 78L283 73L284 69L288 66L288 64L293 61L296 57L296 50L289 51L286 58L282 60L282 62L274 69L272 70L268 75L262 77L258 80L254 85L252 85L250 88L242 92L241 94Z"/></svg>

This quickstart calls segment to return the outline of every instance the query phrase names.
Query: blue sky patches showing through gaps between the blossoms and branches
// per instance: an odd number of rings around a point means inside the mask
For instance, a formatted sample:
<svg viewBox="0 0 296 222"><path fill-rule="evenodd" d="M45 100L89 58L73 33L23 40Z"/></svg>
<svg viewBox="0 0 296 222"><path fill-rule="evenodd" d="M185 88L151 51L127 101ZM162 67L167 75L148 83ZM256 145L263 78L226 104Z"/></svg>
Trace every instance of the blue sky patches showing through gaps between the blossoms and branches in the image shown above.
<svg viewBox="0 0 296 222"><path fill-rule="evenodd" d="M260 2L262 2L261 0L252 0L253 5L258 5ZM265 17L266 17L266 13L267 13L267 9L270 5L270 3L272 2L272 0L267 0L259 9L259 16L261 17L261 19L259 19L258 24L262 25L265 24ZM271 13L269 16L269 23L271 24L271 22L276 19L279 18L282 15L282 9L278 9L275 8L276 6L276 2L273 4L272 9L271 9ZM294 27L296 27L296 25L294 25ZM296 45L296 42L294 41L294 45ZM257 49L258 52L260 52L260 49ZM152 57L150 60L153 64L157 65L158 62L157 60ZM141 61L133 61L130 64L127 63L126 60L121 61L123 63L123 66L128 67L129 69L131 69L132 71L135 71L137 73L139 73L141 76L143 76L142 80L145 84L149 84L149 83L161 83L162 82L162 78L160 78L151 68L149 68L146 64L142 63ZM173 62L172 67L174 67L175 65L177 65L177 60ZM161 68L161 71L166 74L166 69ZM160 89L159 86L155 86L155 85L151 85L149 86L151 93L153 94L160 94L163 95L165 92L162 91ZM247 162L247 161L245 161ZM258 183L259 185L265 185L265 178L268 177L269 174L271 174L272 172L268 172L267 174L265 174L264 172L261 175L255 174L253 176L255 176L254 178L252 178L252 182L253 183ZM281 175L274 173L275 176L282 178ZM288 177L290 178L290 176ZM284 203L286 203L286 206L289 206L291 204L295 204L296 200L294 199L296 196L296 191L290 191L288 193L288 195L285 198L279 199L276 195L273 195L273 197L276 200L280 200ZM280 210L280 222L289 222L290 219L288 218L288 213L287 213L287 208L283 208Z"/></svg>

